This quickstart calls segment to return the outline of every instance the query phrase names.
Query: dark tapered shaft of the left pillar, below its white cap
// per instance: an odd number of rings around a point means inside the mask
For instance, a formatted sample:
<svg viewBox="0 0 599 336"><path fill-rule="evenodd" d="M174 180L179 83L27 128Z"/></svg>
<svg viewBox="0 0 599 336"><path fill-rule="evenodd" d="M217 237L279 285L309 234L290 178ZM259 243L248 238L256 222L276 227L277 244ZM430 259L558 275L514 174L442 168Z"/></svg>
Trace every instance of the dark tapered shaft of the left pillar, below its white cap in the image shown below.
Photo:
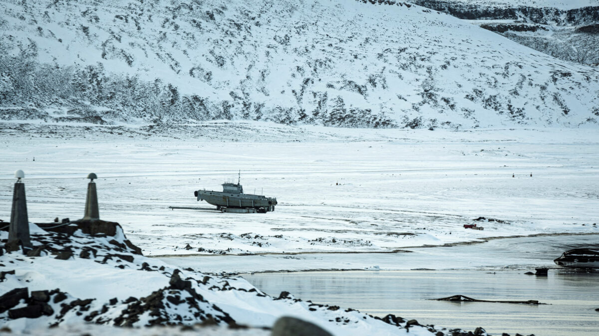
<svg viewBox="0 0 599 336"><path fill-rule="evenodd" d="M20 180L20 179L19 179ZM20 240L26 248L32 248L29 239L29 218L27 216L27 203L25 200L25 184L14 184L13 209L10 213L10 226L8 227L8 243Z"/></svg>

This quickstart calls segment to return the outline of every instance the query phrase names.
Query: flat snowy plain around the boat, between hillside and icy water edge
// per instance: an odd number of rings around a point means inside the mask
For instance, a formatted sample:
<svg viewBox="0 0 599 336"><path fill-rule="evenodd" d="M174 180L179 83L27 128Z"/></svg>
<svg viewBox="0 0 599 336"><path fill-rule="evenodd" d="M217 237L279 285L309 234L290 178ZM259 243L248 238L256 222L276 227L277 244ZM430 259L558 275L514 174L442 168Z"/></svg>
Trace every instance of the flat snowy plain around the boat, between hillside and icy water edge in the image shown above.
<svg viewBox="0 0 599 336"><path fill-rule="evenodd" d="M47 135L52 138L3 133L0 218L10 215L10 173L23 169L34 222L80 216L83 178L97 173L101 215L119 218L146 255L390 252L599 230L592 225L599 216L593 187L599 135L592 129L207 124L210 136L186 139L177 133L108 138L102 127ZM216 138L219 133L236 139ZM66 135L74 138L61 138ZM275 212L168 209L210 208L193 191L220 190L226 179L237 179L237 170L247 193L277 197ZM485 219L474 221L479 217Z"/></svg>

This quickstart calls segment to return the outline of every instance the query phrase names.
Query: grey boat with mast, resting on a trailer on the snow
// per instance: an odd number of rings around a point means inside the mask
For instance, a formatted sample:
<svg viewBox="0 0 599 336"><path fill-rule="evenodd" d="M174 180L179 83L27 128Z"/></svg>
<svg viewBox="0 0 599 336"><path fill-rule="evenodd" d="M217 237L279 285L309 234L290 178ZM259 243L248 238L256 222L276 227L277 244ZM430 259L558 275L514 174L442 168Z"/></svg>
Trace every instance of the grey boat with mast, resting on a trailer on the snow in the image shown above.
<svg viewBox="0 0 599 336"><path fill-rule="evenodd" d="M274 206L277 205L276 197L244 194L240 181L241 173L237 184L223 183L223 191L196 190L193 195L198 198L198 201L207 201L216 206L216 210L222 212L240 212L233 209L247 209L243 212L260 213L274 211Z"/></svg>

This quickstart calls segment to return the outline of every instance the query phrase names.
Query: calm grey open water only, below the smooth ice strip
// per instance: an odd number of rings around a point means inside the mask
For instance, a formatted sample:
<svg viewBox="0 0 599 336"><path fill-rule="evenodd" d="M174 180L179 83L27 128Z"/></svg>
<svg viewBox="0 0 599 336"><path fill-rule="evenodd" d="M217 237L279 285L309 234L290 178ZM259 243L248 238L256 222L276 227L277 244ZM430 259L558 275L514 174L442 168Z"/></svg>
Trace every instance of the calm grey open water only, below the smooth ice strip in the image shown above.
<svg viewBox="0 0 599 336"><path fill-rule="evenodd" d="M314 303L351 307L378 316L395 314L422 324L490 334L599 334L599 271L344 271L264 273L245 279L277 296L291 292ZM432 298L466 295L480 300L539 300L546 305L452 303Z"/></svg>

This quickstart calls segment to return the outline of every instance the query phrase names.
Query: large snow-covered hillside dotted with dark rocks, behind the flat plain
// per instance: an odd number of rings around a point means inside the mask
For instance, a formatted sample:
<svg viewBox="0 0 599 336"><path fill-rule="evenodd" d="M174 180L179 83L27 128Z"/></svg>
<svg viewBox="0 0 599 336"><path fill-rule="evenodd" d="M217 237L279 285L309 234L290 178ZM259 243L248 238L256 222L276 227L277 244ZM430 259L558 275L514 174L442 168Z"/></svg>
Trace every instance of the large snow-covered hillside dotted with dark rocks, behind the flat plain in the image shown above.
<svg viewBox="0 0 599 336"><path fill-rule="evenodd" d="M590 0L589 0L590 1ZM3 1L0 117L596 124L599 71L395 1Z"/></svg>

